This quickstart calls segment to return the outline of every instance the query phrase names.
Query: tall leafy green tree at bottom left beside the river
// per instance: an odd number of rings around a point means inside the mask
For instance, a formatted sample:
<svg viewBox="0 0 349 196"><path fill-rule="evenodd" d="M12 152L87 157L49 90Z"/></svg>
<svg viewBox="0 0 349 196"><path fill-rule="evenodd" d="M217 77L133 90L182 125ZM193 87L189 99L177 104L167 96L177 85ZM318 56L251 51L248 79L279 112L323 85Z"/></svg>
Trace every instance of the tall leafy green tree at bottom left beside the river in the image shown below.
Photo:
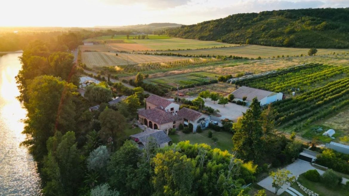
<svg viewBox="0 0 349 196"><path fill-rule="evenodd" d="M46 181L45 195L76 195L82 180L80 152L76 148L75 134L68 131L65 135L57 131L47 140L48 155L43 161L43 175Z"/></svg>

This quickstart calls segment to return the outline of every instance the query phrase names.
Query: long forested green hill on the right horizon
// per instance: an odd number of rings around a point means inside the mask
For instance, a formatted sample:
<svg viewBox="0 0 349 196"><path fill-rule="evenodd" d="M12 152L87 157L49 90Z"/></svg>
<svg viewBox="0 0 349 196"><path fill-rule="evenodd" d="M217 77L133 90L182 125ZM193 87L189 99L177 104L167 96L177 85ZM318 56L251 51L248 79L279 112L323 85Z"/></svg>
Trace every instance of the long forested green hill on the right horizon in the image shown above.
<svg viewBox="0 0 349 196"><path fill-rule="evenodd" d="M349 8L234 14L180 28L172 37L265 46L348 48Z"/></svg>

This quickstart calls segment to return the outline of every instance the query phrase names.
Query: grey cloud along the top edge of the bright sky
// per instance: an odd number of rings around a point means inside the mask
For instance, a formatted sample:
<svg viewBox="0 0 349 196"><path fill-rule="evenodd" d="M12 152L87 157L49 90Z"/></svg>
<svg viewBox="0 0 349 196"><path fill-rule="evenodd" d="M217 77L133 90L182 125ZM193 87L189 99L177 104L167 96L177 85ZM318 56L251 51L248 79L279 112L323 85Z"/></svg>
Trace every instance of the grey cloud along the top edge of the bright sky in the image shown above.
<svg viewBox="0 0 349 196"><path fill-rule="evenodd" d="M134 5L138 3L142 3L144 5L147 5L149 8L157 8L157 9L164 9L164 8L174 8L177 6L186 5L191 0L102 0L105 3L108 4L118 4L118 5Z"/></svg>

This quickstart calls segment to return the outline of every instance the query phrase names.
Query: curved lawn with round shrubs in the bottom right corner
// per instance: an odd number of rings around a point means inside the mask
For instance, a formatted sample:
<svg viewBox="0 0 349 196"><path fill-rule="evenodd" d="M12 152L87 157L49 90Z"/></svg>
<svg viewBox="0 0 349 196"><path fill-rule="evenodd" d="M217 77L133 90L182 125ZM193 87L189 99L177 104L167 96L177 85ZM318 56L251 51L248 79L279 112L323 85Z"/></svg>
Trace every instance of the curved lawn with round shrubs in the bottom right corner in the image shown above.
<svg viewBox="0 0 349 196"><path fill-rule="evenodd" d="M299 175L298 182L304 187L314 191L320 196L348 196L349 191L344 188L343 184L332 185L331 188L327 188L321 182L312 182L304 178L303 174Z"/></svg>

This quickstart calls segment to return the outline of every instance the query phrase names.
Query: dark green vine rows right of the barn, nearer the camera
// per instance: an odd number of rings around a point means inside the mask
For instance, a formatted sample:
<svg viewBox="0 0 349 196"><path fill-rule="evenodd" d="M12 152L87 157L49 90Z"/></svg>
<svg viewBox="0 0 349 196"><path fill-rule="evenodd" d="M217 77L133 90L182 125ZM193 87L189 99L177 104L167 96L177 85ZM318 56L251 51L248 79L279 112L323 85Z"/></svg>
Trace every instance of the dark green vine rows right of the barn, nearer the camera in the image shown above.
<svg viewBox="0 0 349 196"><path fill-rule="evenodd" d="M273 103L277 125L320 120L349 104L349 78L342 78L302 95Z"/></svg>

